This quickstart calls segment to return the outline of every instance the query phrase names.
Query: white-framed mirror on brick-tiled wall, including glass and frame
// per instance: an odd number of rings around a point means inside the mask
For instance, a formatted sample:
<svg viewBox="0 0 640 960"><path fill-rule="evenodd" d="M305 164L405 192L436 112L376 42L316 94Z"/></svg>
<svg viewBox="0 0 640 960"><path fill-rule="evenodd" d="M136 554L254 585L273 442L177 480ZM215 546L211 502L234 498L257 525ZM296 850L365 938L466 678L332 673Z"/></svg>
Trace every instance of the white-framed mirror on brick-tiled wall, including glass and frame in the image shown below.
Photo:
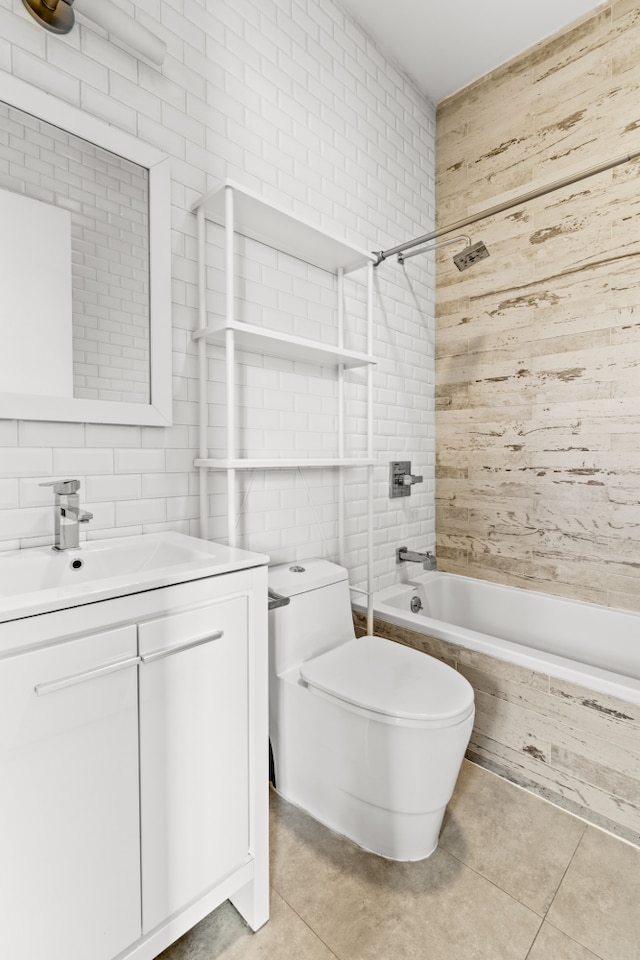
<svg viewBox="0 0 640 960"><path fill-rule="evenodd" d="M0 417L171 424L169 159L0 71Z"/></svg>

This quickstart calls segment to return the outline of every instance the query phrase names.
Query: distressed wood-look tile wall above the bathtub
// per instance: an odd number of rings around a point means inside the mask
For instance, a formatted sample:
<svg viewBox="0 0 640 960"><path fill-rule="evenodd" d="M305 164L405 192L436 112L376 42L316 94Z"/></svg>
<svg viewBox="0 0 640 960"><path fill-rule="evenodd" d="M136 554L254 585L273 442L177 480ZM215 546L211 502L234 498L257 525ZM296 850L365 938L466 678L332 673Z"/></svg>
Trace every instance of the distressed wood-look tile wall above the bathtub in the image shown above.
<svg viewBox="0 0 640 960"><path fill-rule="evenodd" d="M640 150L640 3L437 112L439 225ZM640 161L468 228L437 267L441 570L640 611ZM640 638L639 638L640 646Z"/></svg>

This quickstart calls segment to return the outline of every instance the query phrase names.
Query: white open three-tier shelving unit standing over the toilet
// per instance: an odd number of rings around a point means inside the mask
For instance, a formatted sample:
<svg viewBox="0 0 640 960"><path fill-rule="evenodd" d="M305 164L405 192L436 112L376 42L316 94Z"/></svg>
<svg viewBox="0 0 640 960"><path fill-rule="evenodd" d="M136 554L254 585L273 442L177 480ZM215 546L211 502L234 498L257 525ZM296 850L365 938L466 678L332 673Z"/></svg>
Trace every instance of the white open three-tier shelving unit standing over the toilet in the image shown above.
<svg viewBox="0 0 640 960"><path fill-rule="evenodd" d="M344 556L344 470L350 467L368 467L368 577L369 615L372 618L373 594L373 263L374 257L366 250L354 247L326 230L294 216L257 193L225 180L201 197L193 212L198 220L198 329L193 339L198 343L200 378L200 450L195 466L200 474L200 536L208 538L208 473L222 470L227 477L227 523L230 546L236 542L237 470L282 470L292 467L336 468L339 482L339 551ZM206 309L205 233L206 221L211 220L225 228L225 319L209 324ZM308 340L275 330L269 330L236 319L234 303L234 244L235 235L249 237L276 250L297 257L336 275L337 343L335 346ZM344 347L345 317L343 308L344 275L354 270L367 271L367 351L359 353ZM226 360L226 457L209 456L207 405L207 343L222 346ZM329 458L247 458L238 455L235 419L236 350L249 350L266 356L298 360L336 370L338 382L338 455ZM367 452L364 457L345 456L344 429L344 374L348 369L364 367L367 371Z"/></svg>

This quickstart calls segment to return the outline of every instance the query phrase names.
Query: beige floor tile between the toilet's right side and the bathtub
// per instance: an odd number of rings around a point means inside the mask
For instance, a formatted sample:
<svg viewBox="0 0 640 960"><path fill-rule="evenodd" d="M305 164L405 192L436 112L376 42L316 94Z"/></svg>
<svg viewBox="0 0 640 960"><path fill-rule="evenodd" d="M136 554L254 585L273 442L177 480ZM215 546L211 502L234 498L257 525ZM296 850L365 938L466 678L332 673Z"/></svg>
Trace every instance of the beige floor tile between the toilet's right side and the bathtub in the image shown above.
<svg viewBox="0 0 640 960"><path fill-rule="evenodd" d="M465 761L440 847L543 917L585 829L564 810Z"/></svg>

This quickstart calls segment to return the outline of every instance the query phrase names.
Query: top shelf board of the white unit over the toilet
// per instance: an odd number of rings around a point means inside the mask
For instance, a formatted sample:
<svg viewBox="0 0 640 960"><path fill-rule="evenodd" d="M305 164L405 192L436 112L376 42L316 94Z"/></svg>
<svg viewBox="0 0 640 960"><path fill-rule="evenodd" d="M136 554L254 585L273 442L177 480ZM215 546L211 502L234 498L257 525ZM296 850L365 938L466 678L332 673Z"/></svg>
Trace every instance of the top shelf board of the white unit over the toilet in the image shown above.
<svg viewBox="0 0 640 960"><path fill-rule="evenodd" d="M202 207L209 220L224 224L225 187L233 188L234 228L244 237L275 247L332 273L338 267L347 272L356 270L375 260L369 251L346 243L271 200L264 200L234 180L224 180L196 201L192 207L194 213Z"/></svg>

